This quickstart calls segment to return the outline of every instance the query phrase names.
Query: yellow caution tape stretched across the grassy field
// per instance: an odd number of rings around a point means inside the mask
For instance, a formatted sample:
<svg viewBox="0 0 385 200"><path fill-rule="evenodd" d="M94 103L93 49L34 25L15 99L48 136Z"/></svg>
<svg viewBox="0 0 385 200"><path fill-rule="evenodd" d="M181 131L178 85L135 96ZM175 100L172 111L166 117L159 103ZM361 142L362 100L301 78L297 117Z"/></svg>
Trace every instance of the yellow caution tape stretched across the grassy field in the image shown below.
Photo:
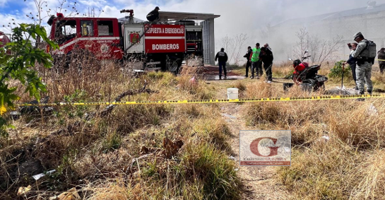
<svg viewBox="0 0 385 200"><path fill-rule="evenodd" d="M61 105L146 105L146 104L189 104L189 103L225 103L225 102L280 102L303 100L343 100L356 98L385 98L385 95L328 95L292 98L251 98L234 100L164 100L164 101L133 101L133 102L58 102L40 104L17 104L16 106L61 106Z"/></svg>

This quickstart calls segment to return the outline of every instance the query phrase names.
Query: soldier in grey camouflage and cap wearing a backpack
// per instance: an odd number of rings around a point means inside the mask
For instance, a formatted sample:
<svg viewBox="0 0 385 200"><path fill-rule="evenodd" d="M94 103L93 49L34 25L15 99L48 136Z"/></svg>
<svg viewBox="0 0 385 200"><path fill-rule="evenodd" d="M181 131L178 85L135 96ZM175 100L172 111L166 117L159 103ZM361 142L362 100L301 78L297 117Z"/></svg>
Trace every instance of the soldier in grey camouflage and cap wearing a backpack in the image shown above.
<svg viewBox="0 0 385 200"><path fill-rule="evenodd" d="M367 48L368 40L365 39L361 32L353 36L353 40L358 43L355 51L351 53L352 57L357 58L357 66L355 75L357 76L357 87L360 95L365 94L365 83L367 84L367 92L371 95L373 91L372 80L372 59L369 59L369 49ZM364 100L364 99L359 99Z"/></svg>

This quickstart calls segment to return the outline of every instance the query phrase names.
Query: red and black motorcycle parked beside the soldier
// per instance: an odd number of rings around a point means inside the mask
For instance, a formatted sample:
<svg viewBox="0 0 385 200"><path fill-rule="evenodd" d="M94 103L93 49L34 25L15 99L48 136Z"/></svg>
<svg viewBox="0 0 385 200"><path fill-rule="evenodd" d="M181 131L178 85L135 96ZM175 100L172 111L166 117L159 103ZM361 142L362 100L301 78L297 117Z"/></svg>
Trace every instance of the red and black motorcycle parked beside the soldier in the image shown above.
<svg viewBox="0 0 385 200"><path fill-rule="evenodd" d="M295 61L293 61L293 81L296 85L300 85L304 90L324 90L325 82L328 81L328 78L326 76L318 74L319 69L321 69L321 65L309 66L307 62L304 62L305 59L309 59L309 57L312 57L310 55L305 57L305 54L307 53L308 51L304 52L302 60L296 59ZM292 59L289 60L292 61Z"/></svg>

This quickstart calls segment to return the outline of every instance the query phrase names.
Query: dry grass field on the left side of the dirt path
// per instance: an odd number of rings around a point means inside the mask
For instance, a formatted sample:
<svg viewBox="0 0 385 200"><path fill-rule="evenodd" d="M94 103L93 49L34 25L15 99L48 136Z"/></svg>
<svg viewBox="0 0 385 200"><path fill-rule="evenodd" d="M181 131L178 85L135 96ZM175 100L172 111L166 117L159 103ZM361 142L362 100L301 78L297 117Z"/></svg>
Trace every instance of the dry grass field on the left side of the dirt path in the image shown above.
<svg viewBox="0 0 385 200"><path fill-rule="evenodd" d="M148 73L138 78L121 73L114 63L97 72L83 66L81 73L42 73L50 102L113 101L126 90L139 90L145 80L156 93L122 100L208 99L215 94L194 68L184 69L181 76ZM189 81L192 76L197 83ZM27 99L23 95L22 101ZM216 117L216 105L119 106L105 117L84 117L104 109L55 107L48 116L37 113L18 119L9 138L0 139L0 199L14 199L13 191L28 184L30 199L48 199L73 186L83 199L239 198L235 163L227 158L230 132ZM183 142L171 158L165 154L165 138ZM31 158L57 172L38 182L30 175L16 176L18 166Z"/></svg>

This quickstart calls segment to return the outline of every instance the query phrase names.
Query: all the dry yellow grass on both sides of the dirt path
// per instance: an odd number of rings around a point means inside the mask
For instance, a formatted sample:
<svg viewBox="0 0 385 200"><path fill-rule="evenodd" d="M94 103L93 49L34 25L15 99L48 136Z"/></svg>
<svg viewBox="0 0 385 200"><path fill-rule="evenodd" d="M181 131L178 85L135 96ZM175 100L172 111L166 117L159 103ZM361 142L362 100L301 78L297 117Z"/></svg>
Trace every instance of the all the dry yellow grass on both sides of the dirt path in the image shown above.
<svg viewBox="0 0 385 200"><path fill-rule="evenodd" d="M292 70L289 63L278 65L275 76ZM329 73L327 67L321 69L321 74ZM111 101L126 90L142 88L145 81L157 93L123 100L211 99L220 88L206 84L192 67L180 76L154 72L138 78L114 63L96 72L85 66L81 73L41 73L51 102ZM194 76L196 83L190 81ZM376 88L384 88L384 77L373 73ZM281 85L263 80L231 86L244 98L309 95L296 86L284 93ZM22 101L28 100L23 88L18 91ZM368 112L372 103L378 115ZM0 199L15 199L18 187L28 184L30 199L47 199L75 186L83 199L239 199L241 182L228 159L230 129L218 117L218 105L119 106L106 117L84 117L104 109L55 107L52 114L14 121L16 129L0 139ZM252 129L292 131L292 166L281 167L278 178L297 199L384 199L384 112L378 99L242 104L242 117ZM183 142L170 157L166 138ZM18 167L31 158L57 172L38 182L18 176Z"/></svg>

